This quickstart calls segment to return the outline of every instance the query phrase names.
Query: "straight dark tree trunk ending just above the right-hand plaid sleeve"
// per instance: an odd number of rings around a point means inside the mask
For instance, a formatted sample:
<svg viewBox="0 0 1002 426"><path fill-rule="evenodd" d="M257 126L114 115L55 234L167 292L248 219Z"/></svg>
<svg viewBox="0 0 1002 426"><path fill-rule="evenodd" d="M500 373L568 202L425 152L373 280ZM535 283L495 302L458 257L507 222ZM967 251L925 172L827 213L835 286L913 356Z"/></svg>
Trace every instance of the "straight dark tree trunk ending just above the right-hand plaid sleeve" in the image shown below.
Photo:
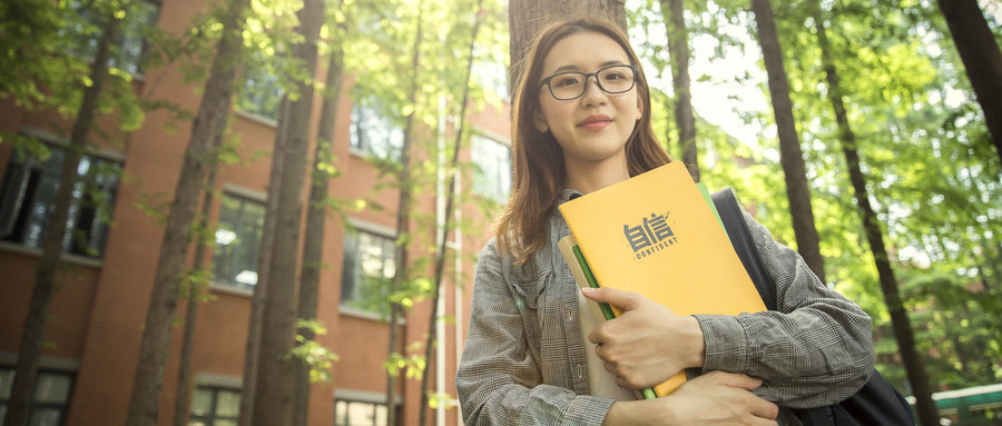
<svg viewBox="0 0 1002 426"><path fill-rule="evenodd" d="M769 93L773 98L773 112L776 115L776 128L779 135L779 162L786 177L786 196L789 198L789 214L793 218L794 234L797 239L797 251L804 257L811 270L825 281L825 261L818 248L817 229L814 227L814 210L811 208L811 188L807 186L807 174L804 166L804 153L797 136L793 116L793 102L789 100L789 82L783 68L783 51L773 20L773 7L769 0L752 0L752 11L758 26L758 43L765 59L766 73L769 80Z"/></svg>

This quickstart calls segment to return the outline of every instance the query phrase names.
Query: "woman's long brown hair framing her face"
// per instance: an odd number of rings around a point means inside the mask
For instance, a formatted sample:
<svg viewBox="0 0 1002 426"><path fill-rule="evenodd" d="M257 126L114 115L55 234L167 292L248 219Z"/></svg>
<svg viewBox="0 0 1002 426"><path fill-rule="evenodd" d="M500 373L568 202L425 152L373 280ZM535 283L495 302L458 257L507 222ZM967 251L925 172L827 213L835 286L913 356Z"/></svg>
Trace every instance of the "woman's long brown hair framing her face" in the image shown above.
<svg viewBox="0 0 1002 426"><path fill-rule="evenodd" d="M494 229L500 248L510 252L518 262L527 261L549 244L547 224L567 184L563 151L552 133L540 132L532 121L540 108L539 80L542 79L543 61L553 44L580 32L597 32L611 38L627 52L632 65L640 65L626 34L607 20L583 18L554 22L536 37L525 55L512 106L514 176L511 198ZM671 161L651 129L650 90L642 69L637 75L636 86L644 109L626 145L627 168L631 177Z"/></svg>

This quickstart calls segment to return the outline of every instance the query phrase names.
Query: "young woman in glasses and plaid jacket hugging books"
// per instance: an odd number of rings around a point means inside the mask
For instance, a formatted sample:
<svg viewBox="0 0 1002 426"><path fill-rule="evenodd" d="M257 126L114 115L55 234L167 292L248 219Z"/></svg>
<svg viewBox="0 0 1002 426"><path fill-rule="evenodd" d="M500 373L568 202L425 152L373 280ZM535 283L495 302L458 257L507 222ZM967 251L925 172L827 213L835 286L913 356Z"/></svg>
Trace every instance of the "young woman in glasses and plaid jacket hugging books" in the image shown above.
<svg viewBox="0 0 1002 426"><path fill-rule="evenodd" d="M579 289L557 248L570 231L557 206L670 158L651 131L637 55L611 23L548 27L520 81L514 185L480 256L455 379L466 425L796 425L787 408L833 404L863 386L870 317L746 215L780 310L684 317L637 294L588 291L625 311L588 336L620 386L704 373L657 399L588 395Z"/></svg>

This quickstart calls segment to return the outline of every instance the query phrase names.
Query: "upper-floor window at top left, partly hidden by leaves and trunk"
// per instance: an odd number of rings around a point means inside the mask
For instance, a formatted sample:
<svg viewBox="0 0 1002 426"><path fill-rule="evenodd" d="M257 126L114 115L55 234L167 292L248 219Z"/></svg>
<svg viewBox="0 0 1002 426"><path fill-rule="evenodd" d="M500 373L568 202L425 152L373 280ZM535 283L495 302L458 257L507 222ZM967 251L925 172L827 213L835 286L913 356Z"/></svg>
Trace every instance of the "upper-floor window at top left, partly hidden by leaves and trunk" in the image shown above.
<svg viewBox="0 0 1002 426"><path fill-rule="evenodd" d="M69 20L67 38L70 40L69 51L88 61L97 55L98 40L101 38L102 22L107 16L89 9L86 2L73 1L72 8L81 17L79 20ZM121 22L120 36L114 41L116 51L112 51L109 65L130 73L139 73L143 53L146 50L146 36L150 28L156 26L160 13L158 1L136 1L126 11L126 19Z"/></svg>

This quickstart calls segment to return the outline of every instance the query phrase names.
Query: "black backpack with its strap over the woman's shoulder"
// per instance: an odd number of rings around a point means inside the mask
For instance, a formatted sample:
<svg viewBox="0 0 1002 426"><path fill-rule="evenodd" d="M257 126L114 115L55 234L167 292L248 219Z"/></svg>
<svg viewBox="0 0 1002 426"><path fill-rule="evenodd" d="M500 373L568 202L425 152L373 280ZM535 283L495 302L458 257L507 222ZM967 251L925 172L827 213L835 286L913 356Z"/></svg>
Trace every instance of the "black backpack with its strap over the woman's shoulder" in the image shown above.
<svg viewBox="0 0 1002 426"><path fill-rule="evenodd" d="M758 295L769 310L775 310L776 286L758 260L755 242L734 192L725 188L714 192L711 198L730 244L755 283ZM877 370L859 392L842 403L793 412L804 425L915 425L915 415L908 403Z"/></svg>

